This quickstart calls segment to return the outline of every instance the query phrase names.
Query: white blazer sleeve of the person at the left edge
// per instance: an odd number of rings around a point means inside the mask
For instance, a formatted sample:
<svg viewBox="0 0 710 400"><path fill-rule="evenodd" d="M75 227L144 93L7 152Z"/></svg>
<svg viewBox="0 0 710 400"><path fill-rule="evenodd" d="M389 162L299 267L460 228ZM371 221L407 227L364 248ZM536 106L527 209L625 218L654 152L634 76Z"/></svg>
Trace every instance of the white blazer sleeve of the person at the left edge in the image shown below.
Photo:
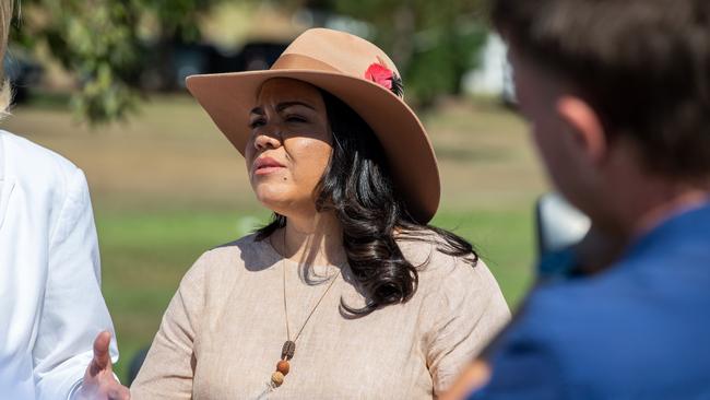
<svg viewBox="0 0 710 400"><path fill-rule="evenodd" d="M103 330L114 333L100 292L100 264L86 178L67 175L67 190L48 247L48 274L33 348L38 399L66 399L81 381ZM111 360L118 360L116 336Z"/></svg>

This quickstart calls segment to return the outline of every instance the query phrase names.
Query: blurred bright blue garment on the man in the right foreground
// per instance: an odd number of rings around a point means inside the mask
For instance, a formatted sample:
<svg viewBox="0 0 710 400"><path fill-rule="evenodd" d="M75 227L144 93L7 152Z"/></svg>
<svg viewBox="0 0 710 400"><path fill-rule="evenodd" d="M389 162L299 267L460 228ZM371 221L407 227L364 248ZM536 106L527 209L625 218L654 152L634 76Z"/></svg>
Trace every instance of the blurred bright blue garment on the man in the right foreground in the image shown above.
<svg viewBox="0 0 710 400"><path fill-rule="evenodd" d="M610 270L536 289L470 399L710 399L710 203Z"/></svg>

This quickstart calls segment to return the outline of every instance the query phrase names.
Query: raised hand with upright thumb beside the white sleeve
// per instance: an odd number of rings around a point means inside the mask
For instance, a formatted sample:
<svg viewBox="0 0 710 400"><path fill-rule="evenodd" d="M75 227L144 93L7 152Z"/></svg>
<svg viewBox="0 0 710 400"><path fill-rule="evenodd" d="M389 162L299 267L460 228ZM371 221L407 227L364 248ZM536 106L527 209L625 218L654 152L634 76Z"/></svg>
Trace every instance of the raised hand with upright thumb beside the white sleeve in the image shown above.
<svg viewBox="0 0 710 400"><path fill-rule="evenodd" d="M114 366L108 352L111 333L103 331L94 340L94 360L88 364L84 381L75 396L78 400L129 400L127 387L116 380Z"/></svg>

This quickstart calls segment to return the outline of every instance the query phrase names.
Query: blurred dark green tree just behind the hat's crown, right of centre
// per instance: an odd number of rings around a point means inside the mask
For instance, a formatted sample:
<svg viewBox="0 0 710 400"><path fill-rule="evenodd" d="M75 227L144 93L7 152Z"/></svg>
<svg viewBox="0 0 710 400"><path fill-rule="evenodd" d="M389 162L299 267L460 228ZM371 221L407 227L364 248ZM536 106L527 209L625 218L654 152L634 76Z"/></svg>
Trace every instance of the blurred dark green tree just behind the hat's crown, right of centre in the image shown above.
<svg viewBox="0 0 710 400"><path fill-rule="evenodd" d="M464 74L478 66L487 37L483 0L281 0L281 4L366 21L374 42L392 56L405 92L419 106L459 95Z"/></svg>

